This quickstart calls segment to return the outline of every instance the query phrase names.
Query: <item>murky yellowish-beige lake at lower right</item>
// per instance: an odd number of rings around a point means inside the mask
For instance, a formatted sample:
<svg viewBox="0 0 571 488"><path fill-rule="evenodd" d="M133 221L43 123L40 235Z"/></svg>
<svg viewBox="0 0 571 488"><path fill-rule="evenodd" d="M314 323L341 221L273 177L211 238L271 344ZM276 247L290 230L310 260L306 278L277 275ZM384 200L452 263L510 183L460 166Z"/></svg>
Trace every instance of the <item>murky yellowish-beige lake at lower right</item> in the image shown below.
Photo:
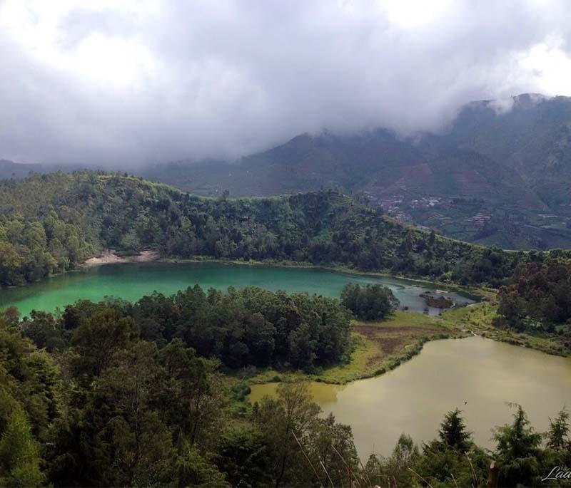
<svg viewBox="0 0 571 488"><path fill-rule="evenodd" d="M253 385L251 402L276 392L276 383ZM406 432L419 445L437 436L445 412L463 410L477 444L495 447L492 427L510 422L519 403L540 432L571 405L571 358L560 358L481 337L425 344L395 370L348 385L310 383L324 414L353 429L365 462L390 455Z"/></svg>

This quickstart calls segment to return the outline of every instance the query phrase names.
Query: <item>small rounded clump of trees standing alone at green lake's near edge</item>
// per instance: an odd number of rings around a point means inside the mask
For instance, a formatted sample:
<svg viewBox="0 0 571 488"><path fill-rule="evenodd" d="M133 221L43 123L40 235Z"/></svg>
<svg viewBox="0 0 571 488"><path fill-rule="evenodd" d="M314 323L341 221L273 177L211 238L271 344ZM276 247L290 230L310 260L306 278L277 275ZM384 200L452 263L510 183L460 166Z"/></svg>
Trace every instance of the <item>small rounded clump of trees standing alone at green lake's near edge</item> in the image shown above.
<svg viewBox="0 0 571 488"><path fill-rule="evenodd" d="M368 284L361 288L359 284L348 283L341 292L341 304L365 321L382 320L398 303L393 292L383 285Z"/></svg>

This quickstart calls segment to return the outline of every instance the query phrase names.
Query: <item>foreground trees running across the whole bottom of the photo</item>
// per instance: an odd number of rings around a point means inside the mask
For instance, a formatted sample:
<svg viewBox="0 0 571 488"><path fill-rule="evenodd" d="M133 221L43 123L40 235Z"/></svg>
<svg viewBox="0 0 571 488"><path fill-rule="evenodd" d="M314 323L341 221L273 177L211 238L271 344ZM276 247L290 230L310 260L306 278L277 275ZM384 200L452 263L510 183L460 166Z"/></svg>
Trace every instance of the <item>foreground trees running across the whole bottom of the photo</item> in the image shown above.
<svg viewBox="0 0 571 488"><path fill-rule="evenodd" d="M255 315L248 293L216 299ZM483 487L493 459L500 486L515 487L570 465L567 412L540 435L521 407L495 430L494 452L473 443L455 410L437 439L419 448L403 435L392 455L363 465L350 427L321 417L303 383L282 383L276 398L251 406L248 385L222 375L219 359L188 348L177 328L168 340L176 320L146 337L149 310L196 294L82 302L24 321L9 308L0 317L0 485Z"/></svg>

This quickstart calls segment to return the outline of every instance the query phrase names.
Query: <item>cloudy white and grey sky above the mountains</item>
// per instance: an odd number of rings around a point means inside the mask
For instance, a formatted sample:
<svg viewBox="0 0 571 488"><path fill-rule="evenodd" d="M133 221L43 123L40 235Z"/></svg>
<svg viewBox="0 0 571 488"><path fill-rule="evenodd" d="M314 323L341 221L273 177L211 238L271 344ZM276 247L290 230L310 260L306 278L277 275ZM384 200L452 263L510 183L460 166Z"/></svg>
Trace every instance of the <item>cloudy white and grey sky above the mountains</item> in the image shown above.
<svg viewBox="0 0 571 488"><path fill-rule="evenodd" d="M234 159L571 95L567 0L0 0L0 159ZM506 106L509 106L507 104Z"/></svg>

